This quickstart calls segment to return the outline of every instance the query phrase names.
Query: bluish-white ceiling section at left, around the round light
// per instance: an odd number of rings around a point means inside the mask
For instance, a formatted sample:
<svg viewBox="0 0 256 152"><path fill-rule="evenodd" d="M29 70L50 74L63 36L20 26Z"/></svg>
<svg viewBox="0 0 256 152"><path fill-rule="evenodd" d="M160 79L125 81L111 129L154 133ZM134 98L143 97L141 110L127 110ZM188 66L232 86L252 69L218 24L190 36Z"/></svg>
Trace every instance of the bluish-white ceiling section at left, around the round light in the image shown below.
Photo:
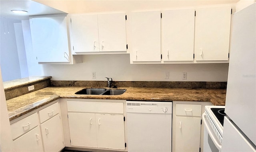
<svg viewBox="0 0 256 152"><path fill-rule="evenodd" d="M25 10L28 13L24 15L15 14L11 10ZM0 16L4 18L24 20L29 19L28 16L64 13L32 0L0 0Z"/></svg>

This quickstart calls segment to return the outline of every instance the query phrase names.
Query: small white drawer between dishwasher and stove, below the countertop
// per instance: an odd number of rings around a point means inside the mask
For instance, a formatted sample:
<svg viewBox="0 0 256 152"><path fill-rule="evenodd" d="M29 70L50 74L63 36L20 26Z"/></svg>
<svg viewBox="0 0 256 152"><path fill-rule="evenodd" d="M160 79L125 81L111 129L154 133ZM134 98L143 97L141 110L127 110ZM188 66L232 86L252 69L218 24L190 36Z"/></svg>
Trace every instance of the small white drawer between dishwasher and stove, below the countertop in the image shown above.
<svg viewBox="0 0 256 152"><path fill-rule="evenodd" d="M176 115L201 117L201 105L176 104Z"/></svg>

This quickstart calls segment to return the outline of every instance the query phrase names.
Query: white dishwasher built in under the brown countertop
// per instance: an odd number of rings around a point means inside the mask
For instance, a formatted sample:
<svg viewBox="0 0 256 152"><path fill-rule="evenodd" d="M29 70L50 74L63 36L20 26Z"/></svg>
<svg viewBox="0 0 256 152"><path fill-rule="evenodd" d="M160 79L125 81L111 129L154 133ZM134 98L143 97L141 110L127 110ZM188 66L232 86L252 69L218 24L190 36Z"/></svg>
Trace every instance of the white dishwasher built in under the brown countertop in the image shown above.
<svg viewBox="0 0 256 152"><path fill-rule="evenodd" d="M172 102L126 101L128 152L171 152Z"/></svg>

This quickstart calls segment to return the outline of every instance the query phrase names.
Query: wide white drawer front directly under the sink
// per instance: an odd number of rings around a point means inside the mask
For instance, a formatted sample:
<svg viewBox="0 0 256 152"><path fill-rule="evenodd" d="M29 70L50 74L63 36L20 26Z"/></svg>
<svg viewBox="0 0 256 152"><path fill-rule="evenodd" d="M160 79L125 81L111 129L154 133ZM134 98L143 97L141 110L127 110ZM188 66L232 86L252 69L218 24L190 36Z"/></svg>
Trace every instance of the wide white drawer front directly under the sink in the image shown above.
<svg viewBox="0 0 256 152"><path fill-rule="evenodd" d="M68 111L90 113L124 113L120 102L67 101Z"/></svg>

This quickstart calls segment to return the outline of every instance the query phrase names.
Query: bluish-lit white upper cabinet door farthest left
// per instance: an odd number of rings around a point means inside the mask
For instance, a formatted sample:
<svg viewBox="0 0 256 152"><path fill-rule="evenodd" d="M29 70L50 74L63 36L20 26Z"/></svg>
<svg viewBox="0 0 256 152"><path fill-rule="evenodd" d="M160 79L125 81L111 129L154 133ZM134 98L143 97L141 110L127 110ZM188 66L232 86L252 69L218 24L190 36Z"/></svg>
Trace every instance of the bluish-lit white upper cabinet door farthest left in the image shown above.
<svg viewBox="0 0 256 152"><path fill-rule="evenodd" d="M30 30L38 62L70 62L65 16L30 18Z"/></svg>

